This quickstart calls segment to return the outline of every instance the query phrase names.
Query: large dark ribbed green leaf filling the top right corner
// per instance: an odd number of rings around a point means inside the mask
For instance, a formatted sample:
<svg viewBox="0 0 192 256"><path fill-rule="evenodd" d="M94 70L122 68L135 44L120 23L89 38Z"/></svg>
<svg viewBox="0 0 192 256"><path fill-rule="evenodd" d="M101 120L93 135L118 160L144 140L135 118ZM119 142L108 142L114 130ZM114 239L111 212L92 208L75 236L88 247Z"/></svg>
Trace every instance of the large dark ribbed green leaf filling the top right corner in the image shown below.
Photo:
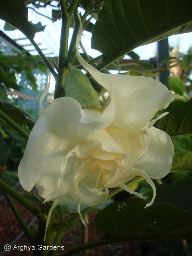
<svg viewBox="0 0 192 256"><path fill-rule="evenodd" d="M134 48L189 32L191 1L105 0L93 28L92 48L118 59Z"/></svg>

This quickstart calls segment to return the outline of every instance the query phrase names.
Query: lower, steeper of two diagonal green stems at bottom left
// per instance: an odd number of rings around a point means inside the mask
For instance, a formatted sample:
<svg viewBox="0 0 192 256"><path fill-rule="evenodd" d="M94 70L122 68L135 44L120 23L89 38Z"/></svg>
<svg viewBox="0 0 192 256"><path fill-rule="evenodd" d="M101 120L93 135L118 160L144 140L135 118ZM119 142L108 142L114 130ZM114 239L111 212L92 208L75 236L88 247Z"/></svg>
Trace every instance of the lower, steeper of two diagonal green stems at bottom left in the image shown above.
<svg viewBox="0 0 192 256"><path fill-rule="evenodd" d="M12 209L13 214L15 215L15 218L17 219L17 221L20 224L20 227L22 228L24 234L26 235L29 243L31 245L35 244L35 241L31 238L31 236L29 236L28 234L28 227L25 223L25 221L23 220L22 216L20 215L20 212L18 211L16 205L14 204L11 196L9 196L4 190L1 190L2 194L4 195L5 199L7 200L7 203L9 204L10 208Z"/></svg>

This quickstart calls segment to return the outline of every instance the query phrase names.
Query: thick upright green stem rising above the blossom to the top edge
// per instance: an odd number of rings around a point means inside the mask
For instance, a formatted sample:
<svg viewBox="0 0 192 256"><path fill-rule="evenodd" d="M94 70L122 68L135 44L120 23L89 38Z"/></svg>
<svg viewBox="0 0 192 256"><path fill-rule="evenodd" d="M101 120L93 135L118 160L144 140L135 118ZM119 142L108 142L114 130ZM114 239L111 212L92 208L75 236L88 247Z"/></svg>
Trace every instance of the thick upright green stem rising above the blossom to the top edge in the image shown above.
<svg viewBox="0 0 192 256"><path fill-rule="evenodd" d="M65 0L60 0L60 7L62 13L62 25L60 37L58 75L55 84L54 99L57 99L62 95L65 88L65 76L68 72L68 37L71 17L67 12Z"/></svg>

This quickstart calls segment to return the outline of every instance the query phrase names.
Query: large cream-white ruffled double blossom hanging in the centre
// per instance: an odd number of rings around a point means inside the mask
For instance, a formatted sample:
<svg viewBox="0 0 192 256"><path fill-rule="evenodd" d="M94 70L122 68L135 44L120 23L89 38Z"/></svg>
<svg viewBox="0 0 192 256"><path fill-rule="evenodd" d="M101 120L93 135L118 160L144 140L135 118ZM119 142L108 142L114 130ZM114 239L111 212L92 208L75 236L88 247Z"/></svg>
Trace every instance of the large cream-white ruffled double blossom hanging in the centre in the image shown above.
<svg viewBox="0 0 192 256"><path fill-rule="evenodd" d="M77 45L82 26L77 36ZM22 187L34 186L46 201L94 206L106 201L109 188L121 187L143 198L125 183L143 177L163 178L171 169L174 149L167 133L153 127L156 112L167 108L174 96L159 81L143 76L103 74L86 63L77 47L77 58L91 76L108 92L111 100L103 112L82 108L69 97L56 99L47 108L42 102L39 118L32 129L19 165Z"/></svg>

